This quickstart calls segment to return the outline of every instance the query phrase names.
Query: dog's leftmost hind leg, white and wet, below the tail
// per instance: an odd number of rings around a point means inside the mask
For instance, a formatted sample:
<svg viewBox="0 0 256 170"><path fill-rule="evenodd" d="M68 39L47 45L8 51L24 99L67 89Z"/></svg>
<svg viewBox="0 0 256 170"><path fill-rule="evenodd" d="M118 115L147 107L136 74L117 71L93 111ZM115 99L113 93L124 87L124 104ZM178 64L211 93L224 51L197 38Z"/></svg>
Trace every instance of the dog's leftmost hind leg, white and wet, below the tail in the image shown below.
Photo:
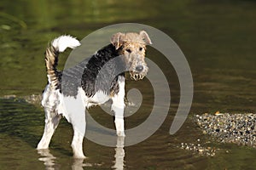
<svg viewBox="0 0 256 170"><path fill-rule="evenodd" d="M38 143L38 150L47 149L52 135L55 133L55 129L61 120L61 116L56 114L55 111L49 111L45 108L45 126L44 134L40 142Z"/></svg>

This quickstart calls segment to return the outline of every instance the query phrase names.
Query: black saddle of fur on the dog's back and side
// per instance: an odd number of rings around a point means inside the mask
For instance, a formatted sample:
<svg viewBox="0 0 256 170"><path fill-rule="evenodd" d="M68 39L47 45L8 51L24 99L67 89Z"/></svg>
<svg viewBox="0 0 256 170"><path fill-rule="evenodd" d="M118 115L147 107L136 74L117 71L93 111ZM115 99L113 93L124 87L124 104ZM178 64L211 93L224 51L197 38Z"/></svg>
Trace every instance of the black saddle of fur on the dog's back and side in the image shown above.
<svg viewBox="0 0 256 170"><path fill-rule="evenodd" d="M119 52L109 44L79 65L56 72L59 80L56 89L60 89L65 96L76 96L80 87L89 97L99 90L108 95L117 94L118 77L125 77L125 61L117 56Z"/></svg>

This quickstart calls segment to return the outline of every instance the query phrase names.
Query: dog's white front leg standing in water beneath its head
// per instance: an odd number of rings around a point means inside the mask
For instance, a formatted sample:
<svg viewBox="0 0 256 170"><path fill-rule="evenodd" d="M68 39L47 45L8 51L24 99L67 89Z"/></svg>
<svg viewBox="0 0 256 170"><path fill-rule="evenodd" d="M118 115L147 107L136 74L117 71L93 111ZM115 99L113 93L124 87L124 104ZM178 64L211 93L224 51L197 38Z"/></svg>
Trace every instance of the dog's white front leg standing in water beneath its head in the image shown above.
<svg viewBox="0 0 256 170"><path fill-rule="evenodd" d="M125 136L125 121L124 121L124 110L125 110L125 78L119 77L119 93L115 94L112 98L112 111L114 112L114 123L116 133L118 136Z"/></svg>

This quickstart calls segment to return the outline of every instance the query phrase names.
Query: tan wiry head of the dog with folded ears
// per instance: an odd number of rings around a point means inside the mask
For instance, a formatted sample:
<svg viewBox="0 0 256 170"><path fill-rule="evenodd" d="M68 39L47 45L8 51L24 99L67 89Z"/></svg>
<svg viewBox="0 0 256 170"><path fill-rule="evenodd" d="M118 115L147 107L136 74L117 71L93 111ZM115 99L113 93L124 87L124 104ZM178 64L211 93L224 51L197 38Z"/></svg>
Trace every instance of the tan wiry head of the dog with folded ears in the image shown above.
<svg viewBox="0 0 256 170"><path fill-rule="evenodd" d="M119 55L125 58L125 64L130 72L131 79L140 80L147 75L148 66L145 62L146 45L152 44L146 31L116 33L111 43L118 50Z"/></svg>

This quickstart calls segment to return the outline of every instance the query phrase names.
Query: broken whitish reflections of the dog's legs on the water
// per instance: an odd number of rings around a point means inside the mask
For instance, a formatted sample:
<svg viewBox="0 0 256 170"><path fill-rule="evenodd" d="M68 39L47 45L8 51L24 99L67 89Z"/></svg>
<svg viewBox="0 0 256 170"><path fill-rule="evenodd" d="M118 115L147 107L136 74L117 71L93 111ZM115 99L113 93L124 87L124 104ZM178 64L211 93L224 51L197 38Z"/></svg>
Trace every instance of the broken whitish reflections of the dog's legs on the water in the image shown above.
<svg viewBox="0 0 256 170"><path fill-rule="evenodd" d="M122 170L125 167L125 149L124 149L124 145L125 145L125 137L123 136L119 136L117 137L117 142L116 142L116 148L115 150L115 154L114 154L114 165L113 165L113 169L117 169L117 170ZM57 165L58 163L55 163L55 159L56 157L53 156L51 153L49 153L48 149L45 150L38 150L38 154L41 156L40 158L38 158L39 161L44 161L44 166L45 169L47 170L57 170L57 169L61 169L61 165ZM93 167L93 164L90 163L86 163L84 162L86 161L86 159L73 159L73 165L72 165L72 169L73 170L82 170L84 169L84 167Z"/></svg>

